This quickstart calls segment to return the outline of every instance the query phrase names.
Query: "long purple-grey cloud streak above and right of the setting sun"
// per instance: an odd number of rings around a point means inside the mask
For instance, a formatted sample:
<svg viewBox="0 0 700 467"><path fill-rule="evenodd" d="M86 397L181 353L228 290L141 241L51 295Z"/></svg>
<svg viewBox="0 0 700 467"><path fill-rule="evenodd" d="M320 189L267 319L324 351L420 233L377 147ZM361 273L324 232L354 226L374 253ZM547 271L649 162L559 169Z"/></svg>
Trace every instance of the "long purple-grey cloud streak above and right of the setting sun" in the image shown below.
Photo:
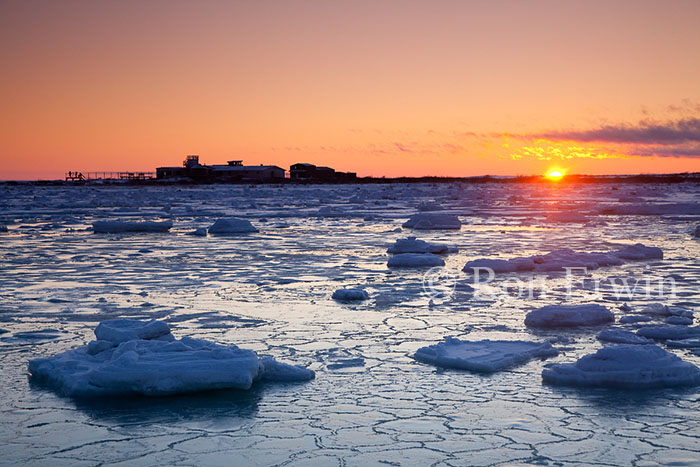
<svg viewBox="0 0 700 467"><path fill-rule="evenodd" d="M677 145L700 142L700 119L653 122L642 120L637 125L604 125L591 130L551 131L530 135L554 141L580 141L618 144Z"/></svg>

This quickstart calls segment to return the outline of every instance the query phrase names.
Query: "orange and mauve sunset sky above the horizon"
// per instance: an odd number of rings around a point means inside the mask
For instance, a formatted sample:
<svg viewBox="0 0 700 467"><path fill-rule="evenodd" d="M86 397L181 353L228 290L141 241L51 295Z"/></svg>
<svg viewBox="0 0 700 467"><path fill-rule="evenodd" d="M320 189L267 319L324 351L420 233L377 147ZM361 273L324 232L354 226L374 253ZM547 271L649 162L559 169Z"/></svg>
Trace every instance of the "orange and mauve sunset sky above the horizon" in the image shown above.
<svg viewBox="0 0 700 467"><path fill-rule="evenodd" d="M700 171L698 1L0 0L0 179Z"/></svg>

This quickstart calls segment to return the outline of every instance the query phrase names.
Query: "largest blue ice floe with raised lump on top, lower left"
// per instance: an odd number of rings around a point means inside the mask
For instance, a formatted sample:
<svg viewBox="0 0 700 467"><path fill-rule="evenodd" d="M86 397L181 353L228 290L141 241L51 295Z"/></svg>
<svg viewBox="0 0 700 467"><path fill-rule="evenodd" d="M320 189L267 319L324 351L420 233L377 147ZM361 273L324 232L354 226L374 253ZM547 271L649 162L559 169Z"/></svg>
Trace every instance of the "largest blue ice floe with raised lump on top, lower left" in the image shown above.
<svg viewBox="0 0 700 467"><path fill-rule="evenodd" d="M249 389L258 380L306 381L314 372L251 350L201 339L176 340L159 321L118 319L95 329L96 341L29 361L32 379L76 397L160 396Z"/></svg>

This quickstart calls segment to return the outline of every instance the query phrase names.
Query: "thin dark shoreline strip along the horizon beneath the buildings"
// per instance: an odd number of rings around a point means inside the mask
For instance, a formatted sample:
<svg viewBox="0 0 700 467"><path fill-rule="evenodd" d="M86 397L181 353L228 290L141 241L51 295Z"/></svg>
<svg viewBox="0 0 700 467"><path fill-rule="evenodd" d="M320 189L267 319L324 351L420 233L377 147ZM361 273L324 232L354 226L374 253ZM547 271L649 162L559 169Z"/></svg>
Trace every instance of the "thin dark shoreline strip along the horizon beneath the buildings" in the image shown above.
<svg viewBox="0 0 700 467"><path fill-rule="evenodd" d="M567 175L563 180L552 181L542 175L524 176L495 176L482 175L476 177L358 177L352 181L232 181L232 182L199 182L187 179L167 180L4 180L0 185L29 185L29 186L188 186L188 185L366 185L366 184L398 184L398 183L546 183L550 185L571 183L700 183L700 172L685 172L675 174L635 174L635 175Z"/></svg>

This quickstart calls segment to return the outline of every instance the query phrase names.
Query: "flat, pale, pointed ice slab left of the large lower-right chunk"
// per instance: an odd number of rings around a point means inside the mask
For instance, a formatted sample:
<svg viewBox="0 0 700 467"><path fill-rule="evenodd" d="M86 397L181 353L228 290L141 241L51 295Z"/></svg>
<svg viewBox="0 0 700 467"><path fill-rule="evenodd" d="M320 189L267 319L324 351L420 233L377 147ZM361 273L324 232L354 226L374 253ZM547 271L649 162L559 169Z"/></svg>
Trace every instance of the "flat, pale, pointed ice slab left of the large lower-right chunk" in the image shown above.
<svg viewBox="0 0 700 467"><path fill-rule="evenodd" d="M444 342L421 347L414 358L439 367L493 373L533 358L548 358L557 354L549 342L463 341L448 337Z"/></svg>

